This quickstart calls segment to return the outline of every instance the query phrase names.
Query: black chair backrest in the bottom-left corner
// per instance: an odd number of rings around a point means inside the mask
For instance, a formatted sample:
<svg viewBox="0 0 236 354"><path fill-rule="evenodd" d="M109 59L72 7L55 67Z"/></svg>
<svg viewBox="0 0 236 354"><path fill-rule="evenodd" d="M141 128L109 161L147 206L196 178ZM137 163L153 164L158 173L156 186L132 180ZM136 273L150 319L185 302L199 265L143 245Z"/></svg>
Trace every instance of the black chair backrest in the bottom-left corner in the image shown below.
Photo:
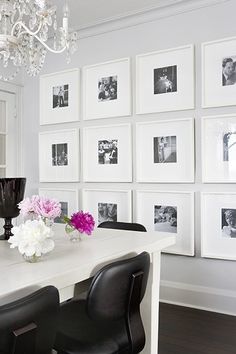
<svg viewBox="0 0 236 354"><path fill-rule="evenodd" d="M0 353L51 353L58 314L59 294L54 286L1 306Z"/></svg>

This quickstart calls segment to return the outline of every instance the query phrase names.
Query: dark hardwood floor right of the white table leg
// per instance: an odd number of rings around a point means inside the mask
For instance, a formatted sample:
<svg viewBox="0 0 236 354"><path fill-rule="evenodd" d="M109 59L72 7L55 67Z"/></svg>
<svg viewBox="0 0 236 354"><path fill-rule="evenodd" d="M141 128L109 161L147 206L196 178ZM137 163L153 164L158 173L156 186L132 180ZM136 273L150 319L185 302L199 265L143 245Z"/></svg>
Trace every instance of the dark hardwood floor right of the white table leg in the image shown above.
<svg viewBox="0 0 236 354"><path fill-rule="evenodd" d="M236 354L236 317L161 303L158 354Z"/></svg>

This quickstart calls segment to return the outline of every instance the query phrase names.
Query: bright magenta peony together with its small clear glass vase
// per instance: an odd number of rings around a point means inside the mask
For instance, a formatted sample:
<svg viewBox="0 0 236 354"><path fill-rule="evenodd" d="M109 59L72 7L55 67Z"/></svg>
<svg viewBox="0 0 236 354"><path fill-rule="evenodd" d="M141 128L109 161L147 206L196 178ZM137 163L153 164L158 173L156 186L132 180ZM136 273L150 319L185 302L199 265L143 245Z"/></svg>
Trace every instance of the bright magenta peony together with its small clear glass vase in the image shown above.
<svg viewBox="0 0 236 354"><path fill-rule="evenodd" d="M71 241L81 239L81 234L91 235L94 230L95 221L91 214L84 213L82 210L71 215L70 218L64 217L66 223L66 233L70 236Z"/></svg>

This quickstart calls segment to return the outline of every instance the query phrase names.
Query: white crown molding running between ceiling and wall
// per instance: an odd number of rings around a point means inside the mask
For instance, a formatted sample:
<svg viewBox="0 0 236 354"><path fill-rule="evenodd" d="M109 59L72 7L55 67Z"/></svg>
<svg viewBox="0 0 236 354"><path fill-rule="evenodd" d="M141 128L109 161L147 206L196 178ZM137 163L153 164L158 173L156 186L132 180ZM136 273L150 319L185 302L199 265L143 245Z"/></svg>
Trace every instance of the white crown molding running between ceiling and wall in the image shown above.
<svg viewBox="0 0 236 354"><path fill-rule="evenodd" d="M106 18L86 26L78 27L76 31L80 39L93 37L107 32L156 21L161 18L219 5L228 1L230 0L162 0L156 6Z"/></svg>

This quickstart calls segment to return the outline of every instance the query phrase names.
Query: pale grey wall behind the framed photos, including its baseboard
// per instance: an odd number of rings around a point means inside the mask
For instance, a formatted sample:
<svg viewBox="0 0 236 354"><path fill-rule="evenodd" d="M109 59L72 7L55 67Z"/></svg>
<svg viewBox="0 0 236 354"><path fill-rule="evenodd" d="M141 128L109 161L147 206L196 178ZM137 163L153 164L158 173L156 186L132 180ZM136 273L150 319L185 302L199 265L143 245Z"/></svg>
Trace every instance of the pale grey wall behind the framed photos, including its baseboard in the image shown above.
<svg viewBox="0 0 236 354"><path fill-rule="evenodd" d="M133 88L135 85L135 55L184 44L195 45L196 50L196 109L184 112L153 113L131 117L101 119L96 122L71 123L73 126L94 124L135 123L165 118L195 117L196 120L196 183L195 184L89 184L89 188L188 190L196 192L195 238L196 256L162 256L161 298L216 311L236 314L236 263L233 261L200 258L200 191L235 191L235 185L204 185L201 183L200 120L203 115L235 113L236 107L201 108L201 43L236 34L236 1L231 0L211 7L161 18L121 30L91 36L79 41L79 50L69 66L63 56L48 55L42 74L67 68L82 67L122 57L131 57ZM134 92L134 90L133 90ZM133 110L135 111L135 110ZM38 131L64 128L64 125L39 127L39 80L25 77L24 87L24 166L28 179L27 193L38 187ZM135 169L134 169L135 180ZM55 186L56 184L54 184ZM64 184L65 186L66 184ZM81 189L85 186L79 183ZM50 184L42 186L49 187ZM60 186L63 186L61 184ZM67 184L68 186L68 184ZM71 185L70 185L71 186ZM88 184L86 185L88 187Z"/></svg>

